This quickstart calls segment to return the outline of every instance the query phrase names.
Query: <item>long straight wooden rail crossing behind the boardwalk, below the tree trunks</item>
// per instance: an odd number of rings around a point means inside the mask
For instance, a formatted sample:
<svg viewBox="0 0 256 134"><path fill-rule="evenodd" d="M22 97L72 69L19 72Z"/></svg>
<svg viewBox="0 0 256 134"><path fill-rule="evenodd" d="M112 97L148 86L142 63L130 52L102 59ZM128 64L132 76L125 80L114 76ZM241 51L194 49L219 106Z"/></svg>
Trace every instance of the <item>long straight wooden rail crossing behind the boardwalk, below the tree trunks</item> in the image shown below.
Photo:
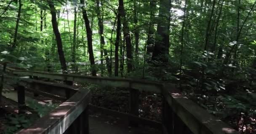
<svg viewBox="0 0 256 134"><path fill-rule="evenodd" d="M112 87L122 87L122 88L133 88L137 90L152 91L155 93L161 92L161 83L147 80L134 80L129 78L110 78L110 77L92 77L92 76L82 76L82 75L70 75L70 74L57 74L48 72L29 72L23 70L13 70L13 75L21 76L37 76L43 78L49 78L53 80L65 80L74 81L81 83L93 83L100 85L109 85Z"/></svg>

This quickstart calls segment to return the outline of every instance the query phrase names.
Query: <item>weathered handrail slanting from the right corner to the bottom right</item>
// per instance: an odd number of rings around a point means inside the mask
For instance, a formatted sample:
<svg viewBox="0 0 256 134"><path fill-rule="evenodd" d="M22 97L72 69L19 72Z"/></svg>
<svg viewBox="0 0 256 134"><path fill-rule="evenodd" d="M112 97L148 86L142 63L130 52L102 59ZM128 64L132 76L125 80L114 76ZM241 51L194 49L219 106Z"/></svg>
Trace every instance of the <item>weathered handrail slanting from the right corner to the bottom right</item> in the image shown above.
<svg viewBox="0 0 256 134"><path fill-rule="evenodd" d="M165 88L162 91L165 100L174 112L174 116L179 117L193 134L238 134L235 129L232 129L188 98L177 97L175 94L171 95Z"/></svg>

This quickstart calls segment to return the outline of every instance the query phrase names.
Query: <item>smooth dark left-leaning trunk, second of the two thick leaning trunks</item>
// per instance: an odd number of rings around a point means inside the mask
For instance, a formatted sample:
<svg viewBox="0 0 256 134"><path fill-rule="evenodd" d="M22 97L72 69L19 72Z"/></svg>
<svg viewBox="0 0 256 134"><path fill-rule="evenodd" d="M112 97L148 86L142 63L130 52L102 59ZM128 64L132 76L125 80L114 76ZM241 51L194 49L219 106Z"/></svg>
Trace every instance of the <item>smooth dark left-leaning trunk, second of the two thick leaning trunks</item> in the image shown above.
<svg viewBox="0 0 256 134"><path fill-rule="evenodd" d="M96 69L95 69L95 62L94 62L94 55L93 55L93 42L92 42L92 31L90 27L90 21L87 16L87 12L85 10L85 0L80 0L80 3L82 4L82 13L83 13L83 19L85 21L85 28L86 28L86 35L87 35L87 41L88 41L88 52L91 62L91 73L93 76L96 76Z"/></svg>

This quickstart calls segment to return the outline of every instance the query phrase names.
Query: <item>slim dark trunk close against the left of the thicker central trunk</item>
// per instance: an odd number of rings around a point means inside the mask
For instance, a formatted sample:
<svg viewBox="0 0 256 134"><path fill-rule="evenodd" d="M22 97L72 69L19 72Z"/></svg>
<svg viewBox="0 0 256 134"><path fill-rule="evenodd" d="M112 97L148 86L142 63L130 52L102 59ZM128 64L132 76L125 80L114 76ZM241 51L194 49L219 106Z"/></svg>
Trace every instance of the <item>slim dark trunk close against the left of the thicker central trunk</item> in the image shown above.
<svg viewBox="0 0 256 134"><path fill-rule="evenodd" d="M118 63L119 63L118 47L119 47L119 41L120 41L120 34L121 34L121 7L119 5L118 13L117 13L117 35L115 40L115 76L118 76Z"/></svg>

